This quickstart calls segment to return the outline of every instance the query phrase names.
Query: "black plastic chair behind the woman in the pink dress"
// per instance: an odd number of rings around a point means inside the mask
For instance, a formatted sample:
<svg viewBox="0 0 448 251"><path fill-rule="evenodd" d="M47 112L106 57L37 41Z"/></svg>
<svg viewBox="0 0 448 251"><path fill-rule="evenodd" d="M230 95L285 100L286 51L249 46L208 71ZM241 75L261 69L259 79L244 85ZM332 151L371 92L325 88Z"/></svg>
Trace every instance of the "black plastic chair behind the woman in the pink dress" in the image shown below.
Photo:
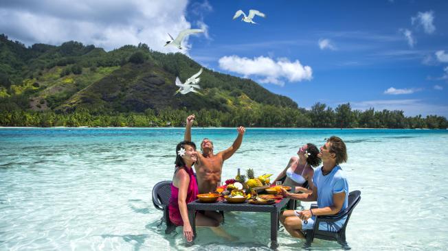
<svg viewBox="0 0 448 251"><path fill-rule="evenodd" d="M172 224L168 215L168 204L171 197L171 180L164 180L155 184L153 188L153 204L155 208L164 212L164 216L161 217L161 222L166 223L165 233L169 234L176 229L176 225Z"/></svg>

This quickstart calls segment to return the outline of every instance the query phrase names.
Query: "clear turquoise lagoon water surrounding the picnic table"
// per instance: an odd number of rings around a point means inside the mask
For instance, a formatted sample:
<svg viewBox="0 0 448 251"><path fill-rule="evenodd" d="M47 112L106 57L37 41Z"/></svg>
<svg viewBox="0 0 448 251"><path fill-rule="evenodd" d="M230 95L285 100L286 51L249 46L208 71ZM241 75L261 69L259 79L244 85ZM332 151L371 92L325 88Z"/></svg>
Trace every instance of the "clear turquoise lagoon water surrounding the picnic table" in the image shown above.
<svg viewBox="0 0 448 251"><path fill-rule="evenodd" d="M236 134L194 128L192 138L220 151ZM278 174L300 145L331 135L346 141L342 167L350 190L362 192L347 228L352 250L448 249L447 130L249 128L223 179L238 167ZM172 178L181 139L182 128L0 128L0 250L269 250L267 213L227 213L223 228L238 241L208 228L192 246L181 228L164 234L151 191ZM278 242L279 250L304 244L282 228Z"/></svg>

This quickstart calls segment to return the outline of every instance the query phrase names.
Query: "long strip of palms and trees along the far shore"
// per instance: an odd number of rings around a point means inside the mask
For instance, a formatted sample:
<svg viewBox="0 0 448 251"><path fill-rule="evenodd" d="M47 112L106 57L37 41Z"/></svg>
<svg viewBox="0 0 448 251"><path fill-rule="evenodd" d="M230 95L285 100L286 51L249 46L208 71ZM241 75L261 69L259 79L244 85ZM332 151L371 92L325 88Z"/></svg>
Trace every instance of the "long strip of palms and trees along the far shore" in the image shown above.
<svg viewBox="0 0 448 251"><path fill-rule="evenodd" d="M181 127L186 117L195 114L200 127L269 127L269 128L429 128L446 129L445 117L429 115L405 117L402 110L352 110L349 103L333 109L316 103L311 110L263 105L256 108L187 110L164 108L145 112L104 112L77 109L74 112L12 110L0 112L1 126L89 126L89 127Z"/></svg>

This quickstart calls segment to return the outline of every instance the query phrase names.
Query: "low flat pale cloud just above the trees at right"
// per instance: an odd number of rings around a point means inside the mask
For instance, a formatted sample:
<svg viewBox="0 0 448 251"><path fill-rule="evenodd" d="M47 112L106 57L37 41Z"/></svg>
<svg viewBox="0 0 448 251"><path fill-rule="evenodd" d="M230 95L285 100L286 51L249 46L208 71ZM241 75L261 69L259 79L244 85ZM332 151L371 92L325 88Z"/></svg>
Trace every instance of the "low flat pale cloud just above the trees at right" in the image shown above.
<svg viewBox="0 0 448 251"><path fill-rule="evenodd" d="M421 99L350 101L350 104L353 110L366 110L373 107L375 110L403 110L406 116L439 115L448 117L448 106L427 104Z"/></svg>

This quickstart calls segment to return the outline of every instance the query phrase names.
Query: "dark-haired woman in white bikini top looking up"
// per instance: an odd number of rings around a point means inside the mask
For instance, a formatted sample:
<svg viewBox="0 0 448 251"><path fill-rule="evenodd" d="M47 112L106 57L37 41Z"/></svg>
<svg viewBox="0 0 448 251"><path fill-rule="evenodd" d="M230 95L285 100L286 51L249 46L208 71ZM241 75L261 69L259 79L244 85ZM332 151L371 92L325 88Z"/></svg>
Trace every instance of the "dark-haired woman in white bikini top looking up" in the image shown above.
<svg viewBox="0 0 448 251"><path fill-rule="evenodd" d="M317 157L319 150L311 143L307 143L300 147L297 152L298 157L293 156L289 160L287 167L278 175L276 180L284 179L283 185L296 187L295 192L307 192L308 189L303 188L303 184L308 181L309 186L313 185L314 170L312 167L320 165L320 158Z"/></svg>

